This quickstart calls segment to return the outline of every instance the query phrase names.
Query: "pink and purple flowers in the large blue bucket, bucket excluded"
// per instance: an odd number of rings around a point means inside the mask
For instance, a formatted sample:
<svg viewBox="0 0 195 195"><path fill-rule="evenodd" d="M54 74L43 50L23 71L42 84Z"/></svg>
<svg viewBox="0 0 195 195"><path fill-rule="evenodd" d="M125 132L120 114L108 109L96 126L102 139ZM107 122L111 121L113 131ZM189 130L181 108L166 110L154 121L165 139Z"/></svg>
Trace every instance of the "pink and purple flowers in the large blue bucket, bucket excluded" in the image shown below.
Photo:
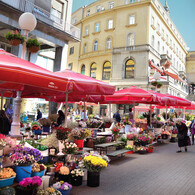
<svg viewBox="0 0 195 195"><path fill-rule="evenodd" d="M17 145L12 149L10 160L15 165L30 165L42 159L41 152L37 149Z"/></svg>

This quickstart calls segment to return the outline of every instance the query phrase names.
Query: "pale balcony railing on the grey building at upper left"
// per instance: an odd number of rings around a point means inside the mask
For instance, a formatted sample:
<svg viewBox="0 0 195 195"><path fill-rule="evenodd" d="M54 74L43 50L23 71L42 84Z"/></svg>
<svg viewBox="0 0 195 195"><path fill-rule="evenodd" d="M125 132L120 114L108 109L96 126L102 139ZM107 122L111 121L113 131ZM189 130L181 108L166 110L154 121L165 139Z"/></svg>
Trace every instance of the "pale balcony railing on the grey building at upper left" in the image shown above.
<svg viewBox="0 0 195 195"><path fill-rule="evenodd" d="M28 0L0 0L22 12L31 12L38 20L60 29L76 39L80 39L80 29L62 20L61 18L52 15L48 11L36 6Z"/></svg>

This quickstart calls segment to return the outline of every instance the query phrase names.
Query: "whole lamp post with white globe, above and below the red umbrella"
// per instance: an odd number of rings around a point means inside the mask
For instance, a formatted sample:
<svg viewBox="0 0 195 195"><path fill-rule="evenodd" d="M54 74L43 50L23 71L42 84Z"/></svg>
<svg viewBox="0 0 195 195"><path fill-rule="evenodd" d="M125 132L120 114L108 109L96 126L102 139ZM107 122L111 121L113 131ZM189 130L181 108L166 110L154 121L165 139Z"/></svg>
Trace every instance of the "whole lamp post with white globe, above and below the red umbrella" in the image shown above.
<svg viewBox="0 0 195 195"><path fill-rule="evenodd" d="M18 23L20 28L24 30L24 35L25 35L25 41L23 43L22 55L21 55L21 58L24 59L28 33L35 29L37 25L37 20L32 13L26 12L19 17ZM13 114L13 121L12 121L11 132L10 132L10 135L12 137L20 137L21 102L22 102L21 91L17 91L17 97L14 99L14 114Z"/></svg>

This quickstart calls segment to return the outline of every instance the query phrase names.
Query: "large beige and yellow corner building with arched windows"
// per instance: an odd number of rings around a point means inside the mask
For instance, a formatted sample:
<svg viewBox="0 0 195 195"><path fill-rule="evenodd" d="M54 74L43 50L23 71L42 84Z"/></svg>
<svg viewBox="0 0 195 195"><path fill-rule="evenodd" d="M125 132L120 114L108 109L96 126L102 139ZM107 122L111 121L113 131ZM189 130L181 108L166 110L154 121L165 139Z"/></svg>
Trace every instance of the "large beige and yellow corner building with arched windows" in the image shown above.
<svg viewBox="0 0 195 195"><path fill-rule="evenodd" d="M81 42L69 44L68 68L117 89L151 89L186 97L186 43L158 0L99 0L72 14ZM165 65L171 66L165 70Z"/></svg>

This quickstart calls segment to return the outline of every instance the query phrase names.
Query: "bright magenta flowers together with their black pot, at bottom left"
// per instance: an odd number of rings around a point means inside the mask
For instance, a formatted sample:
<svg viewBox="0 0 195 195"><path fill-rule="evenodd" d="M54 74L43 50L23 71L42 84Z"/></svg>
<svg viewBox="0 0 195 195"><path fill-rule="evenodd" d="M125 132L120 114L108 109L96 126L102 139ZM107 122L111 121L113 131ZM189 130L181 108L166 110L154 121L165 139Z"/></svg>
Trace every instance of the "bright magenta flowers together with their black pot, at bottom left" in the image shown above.
<svg viewBox="0 0 195 195"><path fill-rule="evenodd" d="M39 176L34 176L33 178L24 178L19 182L16 187L17 194L30 195L36 194L37 188L41 186L42 180Z"/></svg>

